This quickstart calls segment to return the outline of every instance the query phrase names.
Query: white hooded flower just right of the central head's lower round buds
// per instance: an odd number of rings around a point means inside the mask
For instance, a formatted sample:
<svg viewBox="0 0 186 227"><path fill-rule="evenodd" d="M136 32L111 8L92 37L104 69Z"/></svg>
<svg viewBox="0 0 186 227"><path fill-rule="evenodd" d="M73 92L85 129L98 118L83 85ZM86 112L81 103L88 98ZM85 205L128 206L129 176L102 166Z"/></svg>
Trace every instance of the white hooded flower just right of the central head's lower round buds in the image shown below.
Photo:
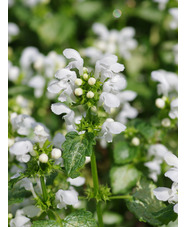
<svg viewBox="0 0 186 227"><path fill-rule="evenodd" d="M111 93L102 92L99 97L99 105L103 105L103 108L106 112L110 113L111 108L119 107L120 100L119 98Z"/></svg>

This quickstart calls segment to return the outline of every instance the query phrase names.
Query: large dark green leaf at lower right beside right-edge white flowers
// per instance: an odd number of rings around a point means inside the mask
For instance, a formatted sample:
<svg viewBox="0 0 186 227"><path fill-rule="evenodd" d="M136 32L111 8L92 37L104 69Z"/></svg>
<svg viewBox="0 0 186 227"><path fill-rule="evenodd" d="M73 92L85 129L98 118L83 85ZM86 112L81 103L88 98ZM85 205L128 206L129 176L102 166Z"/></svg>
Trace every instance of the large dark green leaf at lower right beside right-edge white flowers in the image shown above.
<svg viewBox="0 0 186 227"><path fill-rule="evenodd" d="M156 185L152 182L142 179L133 193L133 200L127 201L127 207L140 221L161 226L176 220L177 214L174 213L172 205L166 207L156 199L153 194L155 188Z"/></svg>

